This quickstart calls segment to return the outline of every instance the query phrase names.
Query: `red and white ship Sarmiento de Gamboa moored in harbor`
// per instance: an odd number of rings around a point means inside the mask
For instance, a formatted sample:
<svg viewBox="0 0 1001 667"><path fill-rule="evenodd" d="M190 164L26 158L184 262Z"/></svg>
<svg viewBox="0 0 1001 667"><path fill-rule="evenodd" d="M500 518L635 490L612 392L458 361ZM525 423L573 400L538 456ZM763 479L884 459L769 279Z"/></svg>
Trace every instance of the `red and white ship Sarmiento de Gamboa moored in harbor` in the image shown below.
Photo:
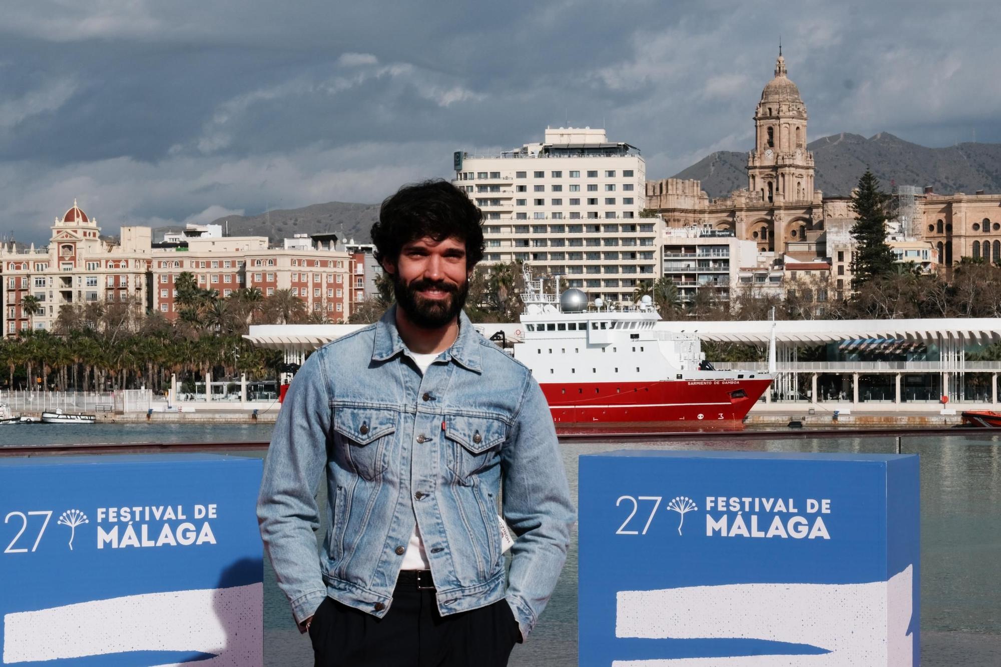
<svg viewBox="0 0 1001 667"><path fill-rule="evenodd" d="M526 285L514 356L532 369L561 430L665 422L733 428L772 383L764 371L713 370L698 337L658 329L649 296L615 308L600 298L589 303L580 289L547 294L542 278L527 275Z"/></svg>

